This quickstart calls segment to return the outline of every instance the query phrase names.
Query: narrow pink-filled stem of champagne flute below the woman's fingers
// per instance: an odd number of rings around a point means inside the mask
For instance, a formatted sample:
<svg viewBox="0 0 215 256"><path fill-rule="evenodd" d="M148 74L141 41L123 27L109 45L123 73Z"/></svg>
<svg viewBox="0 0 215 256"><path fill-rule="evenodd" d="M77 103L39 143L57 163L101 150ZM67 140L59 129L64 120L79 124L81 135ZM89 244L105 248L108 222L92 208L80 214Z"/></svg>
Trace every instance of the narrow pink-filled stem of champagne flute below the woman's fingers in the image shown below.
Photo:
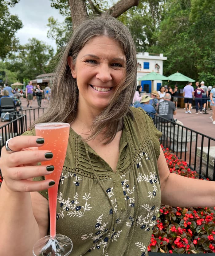
<svg viewBox="0 0 215 256"><path fill-rule="evenodd" d="M58 185L48 189L49 194L49 216L50 216L50 236L52 239L56 236L56 210L57 210L57 189Z"/></svg>

